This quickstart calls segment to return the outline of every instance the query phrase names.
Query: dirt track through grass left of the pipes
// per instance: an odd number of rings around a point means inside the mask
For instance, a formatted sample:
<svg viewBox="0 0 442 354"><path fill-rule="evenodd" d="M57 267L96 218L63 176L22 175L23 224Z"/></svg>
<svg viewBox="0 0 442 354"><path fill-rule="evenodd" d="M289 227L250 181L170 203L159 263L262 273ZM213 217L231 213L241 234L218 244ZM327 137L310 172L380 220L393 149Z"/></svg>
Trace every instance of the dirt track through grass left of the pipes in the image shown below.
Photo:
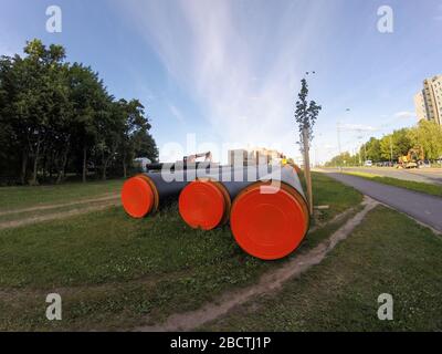
<svg viewBox="0 0 442 354"><path fill-rule="evenodd" d="M83 214L87 214L87 212L92 212L92 211L99 211L99 210L107 209L109 207L120 205L119 198L108 198L108 199L104 199L104 201L95 199L93 201L90 200L88 202L91 204L91 202L96 202L96 201L98 201L97 205L90 206L90 207L83 206L85 202L76 202L76 204L71 204L69 206L78 205L78 206L81 206L81 208L75 208L73 210L67 210L67 211L62 211L62 212L35 216L35 217L30 217L30 218L25 218L25 219L0 222L0 230L18 228L18 227L43 222L43 221L65 219L65 218L70 218L73 216L78 216L78 215L83 215ZM64 205L64 207L66 207L66 206L67 205ZM56 206L56 208L60 208L60 207L61 206ZM51 209L53 209L53 208L51 208ZM39 210L45 210L45 209L39 209Z"/></svg>

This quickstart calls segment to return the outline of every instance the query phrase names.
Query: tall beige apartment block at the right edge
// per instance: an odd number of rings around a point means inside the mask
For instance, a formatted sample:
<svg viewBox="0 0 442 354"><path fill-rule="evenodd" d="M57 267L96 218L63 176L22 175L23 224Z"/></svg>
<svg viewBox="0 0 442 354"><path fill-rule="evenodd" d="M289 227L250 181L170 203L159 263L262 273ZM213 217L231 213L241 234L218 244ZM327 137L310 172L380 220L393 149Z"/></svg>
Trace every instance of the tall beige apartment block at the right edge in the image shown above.
<svg viewBox="0 0 442 354"><path fill-rule="evenodd" d="M423 90L414 96L414 106L420 121L442 125L442 75L423 81Z"/></svg>

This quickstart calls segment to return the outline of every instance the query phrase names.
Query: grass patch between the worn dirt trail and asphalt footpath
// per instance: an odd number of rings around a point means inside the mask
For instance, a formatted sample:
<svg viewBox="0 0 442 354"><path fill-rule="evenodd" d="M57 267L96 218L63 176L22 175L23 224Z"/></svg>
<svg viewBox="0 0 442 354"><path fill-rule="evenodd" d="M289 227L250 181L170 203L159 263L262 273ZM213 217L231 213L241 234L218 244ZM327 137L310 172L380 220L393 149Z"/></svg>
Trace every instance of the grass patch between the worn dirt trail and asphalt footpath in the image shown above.
<svg viewBox="0 0 442 354"><path fill-rule="evenodd" d="M442 239L385 207L276 295L238 309L212 331L441 331ZM378 296L393 296L379 321Z"/></svg>

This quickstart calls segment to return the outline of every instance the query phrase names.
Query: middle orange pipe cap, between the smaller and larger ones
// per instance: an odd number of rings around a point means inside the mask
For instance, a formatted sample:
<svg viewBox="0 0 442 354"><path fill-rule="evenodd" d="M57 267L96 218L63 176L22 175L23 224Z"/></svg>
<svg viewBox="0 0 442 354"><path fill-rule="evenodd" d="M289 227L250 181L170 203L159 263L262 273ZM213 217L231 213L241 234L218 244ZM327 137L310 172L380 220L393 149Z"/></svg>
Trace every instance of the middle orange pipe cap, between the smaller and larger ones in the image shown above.
<svg viewBox="0 0 442 354"><path fill-rule="evenodd" d="M191 228L213 230L228 220L231 201L220 183L197 179L181 191L178 207Z"/></svg>

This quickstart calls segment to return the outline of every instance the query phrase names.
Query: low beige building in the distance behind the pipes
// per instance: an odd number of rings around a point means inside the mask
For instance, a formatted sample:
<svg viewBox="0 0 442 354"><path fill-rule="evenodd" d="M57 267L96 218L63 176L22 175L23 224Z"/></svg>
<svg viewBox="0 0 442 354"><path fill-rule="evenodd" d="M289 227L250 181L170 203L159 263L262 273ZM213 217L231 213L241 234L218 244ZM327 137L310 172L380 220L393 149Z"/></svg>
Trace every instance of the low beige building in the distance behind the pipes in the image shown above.
<svg viewBox="0 0 442 354"><path fill-rule="evenodd" d="M270 165L282 163L285 159L286 157L282 153L266 148L229 150L230 166Z"/></svg>

